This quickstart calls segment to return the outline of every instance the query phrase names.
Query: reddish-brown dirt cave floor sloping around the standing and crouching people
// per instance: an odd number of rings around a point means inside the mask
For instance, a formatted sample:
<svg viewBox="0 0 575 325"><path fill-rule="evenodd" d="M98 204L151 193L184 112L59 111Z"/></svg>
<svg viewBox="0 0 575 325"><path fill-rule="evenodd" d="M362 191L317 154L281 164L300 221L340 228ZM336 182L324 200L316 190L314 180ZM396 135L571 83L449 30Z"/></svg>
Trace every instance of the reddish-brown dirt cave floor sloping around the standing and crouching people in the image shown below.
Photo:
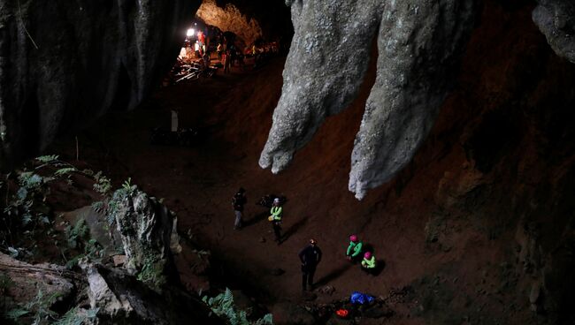
<svg viewBox="0 0 575 325"><path fill-rule="evenodd" d="M349 155L373 76L361 98L340 116L329 117L288 170L272 175L257 160L280 97L282 69L283 58L277 57L256 71L234 69L229 75L219 72L211 79L162 88L141 109L111 113L79 134L80 160L117 183L132 178L150 195L165 198L179 217L181 233L191 231L200 246L234 269L246 288L257 288L259 295L272 301L301 299L297 253L309 238L316 238L324 253L316 282L334 286L338 296L351 291L383 295L406 284L421 273L421 267L401 261L405 254L413 261L421 253L402 247L422 242L423 227L408 226L404 217L386 208L389 197L395 196L388 186L363 201L347 190ZM180 126L201 127L205 138L200 144L150 144L154 127L169 126L172 109L180 111ZM59 140L53 153L75 159L74 137ZM248 204L244 228L234 231L230 200L240 186L247 190ZM269 211L255 204L269 193L288 198L280 246L272 240ZM412 203L403 204L407 208ZM425 214L412 206L410 210ZM376 257L385 261L380 276L366 276L358 265L346 261L351 233L371 244ZM416 261L423 263L422 257ZM285 274L272 275L276 268Z"/></svg>

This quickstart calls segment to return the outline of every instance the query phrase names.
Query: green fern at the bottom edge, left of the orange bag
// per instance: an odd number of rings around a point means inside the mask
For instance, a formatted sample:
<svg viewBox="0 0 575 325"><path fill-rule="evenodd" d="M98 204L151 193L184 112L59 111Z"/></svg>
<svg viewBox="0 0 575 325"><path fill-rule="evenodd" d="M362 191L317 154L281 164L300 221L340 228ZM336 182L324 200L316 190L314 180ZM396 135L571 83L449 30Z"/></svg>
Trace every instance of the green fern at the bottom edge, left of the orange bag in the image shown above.
<svg viewBox="0 0 575 325"><path fill-rule="evenodd" d="M213 298L203 296L203 302L210 306L211 311L220 317L225 318L231 325L272 325L272 314L265 314L264 317L249 321L246 311L239 310L234 304L234 294L228 288L223 293Z"/></svg>

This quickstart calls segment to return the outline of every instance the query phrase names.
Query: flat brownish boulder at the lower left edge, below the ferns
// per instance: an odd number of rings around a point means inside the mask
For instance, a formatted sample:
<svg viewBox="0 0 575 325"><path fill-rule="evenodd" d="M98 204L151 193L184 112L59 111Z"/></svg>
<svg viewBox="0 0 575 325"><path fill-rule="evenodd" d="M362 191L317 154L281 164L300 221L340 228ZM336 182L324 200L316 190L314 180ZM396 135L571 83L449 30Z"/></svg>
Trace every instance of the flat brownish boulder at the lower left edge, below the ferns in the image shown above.
<svg viewBox="0 0 575 325"><path fill-rule="evenodd" d="M55 296L55 303L69 299L75 290L68 277L80 276L53 264L29 264L0 253L3 304L6 309L26 304L42 291L44 297ZM47 306L50 307L50 306Z"/></svg>

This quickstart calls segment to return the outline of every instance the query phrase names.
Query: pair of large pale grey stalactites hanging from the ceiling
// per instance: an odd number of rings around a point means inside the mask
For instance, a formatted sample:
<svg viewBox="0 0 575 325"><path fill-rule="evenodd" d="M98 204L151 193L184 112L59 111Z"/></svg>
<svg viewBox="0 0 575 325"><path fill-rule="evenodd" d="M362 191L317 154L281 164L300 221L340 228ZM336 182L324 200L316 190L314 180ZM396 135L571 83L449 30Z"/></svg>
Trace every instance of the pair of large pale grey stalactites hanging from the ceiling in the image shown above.
<svg viewBox="0 0 575 325"><path fill-rule="evenodd" d="M287 1L295 27L280 102L259 160L277 173L364 79L377 35L378 74L351 155L349 190L386 182L410 162L449 90L475 1ZM378 30L379 27L379 30Z"/></svg>

